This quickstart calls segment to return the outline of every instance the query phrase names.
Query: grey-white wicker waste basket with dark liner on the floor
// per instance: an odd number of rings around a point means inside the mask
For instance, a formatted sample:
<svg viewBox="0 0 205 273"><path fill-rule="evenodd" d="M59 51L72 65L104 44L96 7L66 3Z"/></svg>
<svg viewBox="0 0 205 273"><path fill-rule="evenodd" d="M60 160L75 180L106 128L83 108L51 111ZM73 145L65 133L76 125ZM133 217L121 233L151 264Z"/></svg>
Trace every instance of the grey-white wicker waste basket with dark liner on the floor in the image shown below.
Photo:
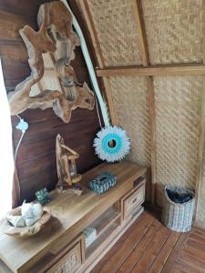
<svg viewBox="0 0 205 273"><path fill-rule="evenodd" d="M167 189L179 195L190 194L191 198L184 203L175 203L169 198ZM191 229L195 201L194 193L185 187L165 187L165 199L162 212L162 221L165 226L178 232L189 231Z"/></svg>

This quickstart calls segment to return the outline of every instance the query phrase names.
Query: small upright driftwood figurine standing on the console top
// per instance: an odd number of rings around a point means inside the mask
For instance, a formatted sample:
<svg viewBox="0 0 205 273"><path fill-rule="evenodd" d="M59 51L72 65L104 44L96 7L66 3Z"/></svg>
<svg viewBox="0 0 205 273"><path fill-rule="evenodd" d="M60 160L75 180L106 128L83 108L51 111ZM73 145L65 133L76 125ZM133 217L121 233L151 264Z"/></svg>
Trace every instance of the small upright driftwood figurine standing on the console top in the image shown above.
<svg viewBox="0 0 205 273"><path fill-rule="evenodd" d="M72 190L75 194L82 194L82 187L77 183L82 176L77 174L76 159L79 157L76 151L64 144L64 139L59 134L56 136L56 169L60 190Z"/></svg>

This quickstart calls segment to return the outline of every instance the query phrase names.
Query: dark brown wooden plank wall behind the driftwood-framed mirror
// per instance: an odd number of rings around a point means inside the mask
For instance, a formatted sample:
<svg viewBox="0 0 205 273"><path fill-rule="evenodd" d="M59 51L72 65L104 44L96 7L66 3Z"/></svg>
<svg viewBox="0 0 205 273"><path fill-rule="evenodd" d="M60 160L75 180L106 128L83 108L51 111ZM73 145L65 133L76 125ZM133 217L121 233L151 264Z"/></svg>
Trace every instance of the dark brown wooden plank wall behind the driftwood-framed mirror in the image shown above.
<svg viewBox="0 0 205 273"><path fill-rule="evenodd" d="M30 75L27 64L26 46L18 30L24 25L37 29L36 15L39 5L47 0L0 0L0 56L2 58L5 87L7 92ZM80 15L77 6L70 1L79 23ZM83 30L85 28L83 27ZM92 58L94 58L92 56ZM95 59L94 59L95 62ZM87 68L80 48L76 50L73 66L79 82L86 81L90 86ZM90 86L91 87L91 86ZM49 190L56 185L56 135L60 133L66 144L80 154L77 169L83 173L99 164L92 147L92 141L99 129L96 108L93 111L77 109L73 111L71 121L65 124L52 109L26 110L22 116L28 123L29 129L23 138L16 158L17 176L21 188L21 200L31 199L37 189L47 187ZM21 132L15 129L18 122L12 117L14 147Z"/></svg>

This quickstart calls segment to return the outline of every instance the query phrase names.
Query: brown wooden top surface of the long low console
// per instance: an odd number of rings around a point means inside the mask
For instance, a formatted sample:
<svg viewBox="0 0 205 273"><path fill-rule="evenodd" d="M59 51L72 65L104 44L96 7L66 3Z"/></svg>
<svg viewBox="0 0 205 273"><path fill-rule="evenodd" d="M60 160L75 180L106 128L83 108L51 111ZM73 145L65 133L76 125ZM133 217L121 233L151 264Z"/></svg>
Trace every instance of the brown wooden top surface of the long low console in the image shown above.
<svg viewBox="0 0 205 273"><path fill-rule="evenodd" d="M87 181L97 177L103 171L109 171L117 176L117 185L108 189L102 195L86 189L82 196L73 193L51 192L52 200L46 207L51 210L52 217L46 226L36 236L31 238L12 238L0 234L0 258L13 269L20 268L39 252L49 248L56 238L67 230L79 232L92 220L99 210L112 206L120 195L129 190L135 179L146 173L146 167L123 161L117 164L103 163L83 175L81 184L87 187ZM130 185L130 186L129 186ZM115 193L115 195L114 195ZM98 211L97 211L98 210Z"/></svg>

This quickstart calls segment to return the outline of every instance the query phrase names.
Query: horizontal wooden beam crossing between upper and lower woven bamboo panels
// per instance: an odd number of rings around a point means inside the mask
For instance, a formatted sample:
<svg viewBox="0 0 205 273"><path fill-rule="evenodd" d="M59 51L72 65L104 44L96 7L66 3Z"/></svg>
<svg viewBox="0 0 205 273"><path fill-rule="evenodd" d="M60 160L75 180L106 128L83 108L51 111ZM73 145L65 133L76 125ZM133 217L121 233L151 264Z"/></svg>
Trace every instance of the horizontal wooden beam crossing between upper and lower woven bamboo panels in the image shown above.
<svg viewBox="0 0 205 273"><path fill-rule="evenodd" d="M96 68L97 76L187 76L205 75L205 65L115 66Z"/></svg>

